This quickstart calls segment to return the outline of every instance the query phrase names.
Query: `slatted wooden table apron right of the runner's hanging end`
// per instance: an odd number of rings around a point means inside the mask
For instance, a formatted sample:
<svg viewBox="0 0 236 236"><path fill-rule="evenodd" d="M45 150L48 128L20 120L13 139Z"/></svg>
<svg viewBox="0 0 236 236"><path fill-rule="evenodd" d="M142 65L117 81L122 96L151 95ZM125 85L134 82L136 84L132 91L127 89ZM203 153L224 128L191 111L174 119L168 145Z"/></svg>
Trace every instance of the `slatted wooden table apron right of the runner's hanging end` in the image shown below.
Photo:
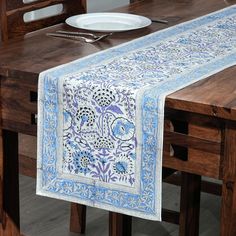
<svg viewBox="0 0 236 236"><path fill-rule="evenodd" d="M171 122L173 127L168 131L165 126L163 166L220 178L224 121L167 108L167 122Z"/></svg>

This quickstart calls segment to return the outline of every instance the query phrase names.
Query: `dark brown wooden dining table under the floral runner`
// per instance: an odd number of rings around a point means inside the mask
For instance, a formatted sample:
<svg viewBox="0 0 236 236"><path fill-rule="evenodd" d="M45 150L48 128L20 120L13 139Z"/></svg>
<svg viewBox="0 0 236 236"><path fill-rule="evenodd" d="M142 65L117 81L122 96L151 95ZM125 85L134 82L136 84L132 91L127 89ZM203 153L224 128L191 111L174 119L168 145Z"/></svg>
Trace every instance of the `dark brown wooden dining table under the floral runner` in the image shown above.
<svg viewBox="0 0 236 236"><path fill-rule="evenodd" d="M36 135L37 80L41 71L234 3L235 0L136 1L118 11L165 18L169 24L153 23L145 29L114 34L96 44L45 36L45 32L68 28L62 24L1 45L0 137L4 152L0 162L0 235L20 235L17 134ZM182 193L188 200L181 203L180 235L197 235L192 218L199 217L194 207L199 204L199 196L194 195L194 188L198 188L200 176L223 180L221 235L236 235L236 67L169 95L165 128L163 165L183 171L183 184L188 190ZM176 149L174 157L169 153L170 144ZM117 225L113 226L110 233L119 235Z"/></svg>

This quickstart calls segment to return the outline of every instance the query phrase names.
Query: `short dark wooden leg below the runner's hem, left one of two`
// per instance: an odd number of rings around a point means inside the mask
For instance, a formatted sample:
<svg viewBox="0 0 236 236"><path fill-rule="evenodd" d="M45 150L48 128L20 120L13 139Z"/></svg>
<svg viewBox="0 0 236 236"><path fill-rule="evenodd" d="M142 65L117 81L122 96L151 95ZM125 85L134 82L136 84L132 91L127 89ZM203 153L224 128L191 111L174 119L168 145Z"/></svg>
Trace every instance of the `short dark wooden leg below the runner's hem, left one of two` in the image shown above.
<svg viewBox="0 0 236 236"><path fill-rule="evenodd" d="M86 230L86 206L71 203L70 231L84 234Z"/></svg>

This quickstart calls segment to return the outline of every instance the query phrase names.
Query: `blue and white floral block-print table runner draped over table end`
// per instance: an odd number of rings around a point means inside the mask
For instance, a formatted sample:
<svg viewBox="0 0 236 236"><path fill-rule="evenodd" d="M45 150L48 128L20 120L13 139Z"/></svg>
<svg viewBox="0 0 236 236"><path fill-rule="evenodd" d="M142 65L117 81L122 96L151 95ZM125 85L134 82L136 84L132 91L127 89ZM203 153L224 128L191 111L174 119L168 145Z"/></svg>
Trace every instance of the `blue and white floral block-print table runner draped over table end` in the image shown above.
<svg viewBox="0 0 236 236"><path fill-rule="evenodd" d="M236 6L44 71L37 194L161 220L166 95L236 64Z"/></svg>

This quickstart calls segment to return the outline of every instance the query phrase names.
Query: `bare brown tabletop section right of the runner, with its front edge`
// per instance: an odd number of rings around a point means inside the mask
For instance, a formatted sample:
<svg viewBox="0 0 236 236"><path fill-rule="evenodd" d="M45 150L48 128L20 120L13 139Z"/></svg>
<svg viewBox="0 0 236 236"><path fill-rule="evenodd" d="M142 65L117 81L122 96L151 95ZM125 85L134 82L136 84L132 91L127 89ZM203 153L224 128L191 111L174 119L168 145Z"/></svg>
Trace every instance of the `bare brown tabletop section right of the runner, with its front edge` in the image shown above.
<svg viewBox="0 0 236 236"><path fill-rule="evenodd" d="M166 107L236 121L236 66L170 94Z"/></svg>

